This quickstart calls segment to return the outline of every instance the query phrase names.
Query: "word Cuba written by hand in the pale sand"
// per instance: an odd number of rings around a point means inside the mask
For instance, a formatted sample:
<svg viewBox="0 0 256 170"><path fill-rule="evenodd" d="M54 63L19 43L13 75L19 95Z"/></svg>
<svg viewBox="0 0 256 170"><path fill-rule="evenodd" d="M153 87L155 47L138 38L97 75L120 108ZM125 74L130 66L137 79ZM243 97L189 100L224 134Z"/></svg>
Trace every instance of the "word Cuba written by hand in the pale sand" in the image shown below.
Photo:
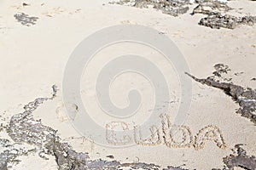
<svg viewBox="0 0 256 170"><path fill-rule="evenodd" d="M205 144L210 141L221 149L226 147L223 134L217 126L209 125L203 127L193 136L188 126L172 125L170 117L167 115L160 117L160 127L151 126L149 128L150 135L145 138L143 138L143 132L140 127L130 129L125 122L108 123L106 125L106 139L108 144L120 146L127 144L146 146L166 144L169 148L194 147L195 150L201 150L205 147Z"/></svg>

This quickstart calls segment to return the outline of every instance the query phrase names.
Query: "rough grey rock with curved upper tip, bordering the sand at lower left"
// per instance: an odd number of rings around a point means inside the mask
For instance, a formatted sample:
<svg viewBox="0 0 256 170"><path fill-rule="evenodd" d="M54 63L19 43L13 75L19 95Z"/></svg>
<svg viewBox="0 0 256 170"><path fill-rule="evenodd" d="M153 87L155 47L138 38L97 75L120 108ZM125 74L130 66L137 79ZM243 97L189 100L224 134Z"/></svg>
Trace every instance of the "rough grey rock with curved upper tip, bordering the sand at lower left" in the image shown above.
<svg viewBox="0 0 256 170"><path fill-rule="evenodd" d="M160 166L143 162L121 163L119 161L90 160L87 153L77 152L67 143L62 143L56 130L44 126L40 120L33 118L32 112L45 101L55 98L57 88L53 88L50 98L38 98L24 106L24 112L12 116L7 127L3 127L13 139L15 144L10 144L8 139L0 139L0 169L7 170L10 164L18 163L19 156L26 156L31 151L38 152L43 159L55 156L56 164L60 170L84 170L84 169L159 169ZM20 149L16 149L19 145ZM30 144L32 150L22 149L22 144ZM14 147L16 146L16 147Z"/></svg>

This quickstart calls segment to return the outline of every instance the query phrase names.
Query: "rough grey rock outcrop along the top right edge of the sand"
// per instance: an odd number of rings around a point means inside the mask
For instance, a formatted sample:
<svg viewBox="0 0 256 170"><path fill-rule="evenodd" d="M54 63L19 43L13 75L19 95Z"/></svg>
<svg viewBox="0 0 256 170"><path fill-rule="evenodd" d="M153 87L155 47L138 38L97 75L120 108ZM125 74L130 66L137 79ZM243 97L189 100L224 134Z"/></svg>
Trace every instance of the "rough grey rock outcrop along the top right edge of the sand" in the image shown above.
<svg viewBox="0 0 256 170"><path fill-rule="evenodd" d="M189 0L119 0L112 4L128 5L137 8L154 8L162 11L163 14L178 16L189 11L191 4ZM201 26L207 26L214 29L228 28L234 29L236 26L247 25L253 26L256 23L256 16L236 17L226 12L232 8L227 3L218 0L195 0L197 6L193 9L193 14L207 14L199 22Z"/></svg>

